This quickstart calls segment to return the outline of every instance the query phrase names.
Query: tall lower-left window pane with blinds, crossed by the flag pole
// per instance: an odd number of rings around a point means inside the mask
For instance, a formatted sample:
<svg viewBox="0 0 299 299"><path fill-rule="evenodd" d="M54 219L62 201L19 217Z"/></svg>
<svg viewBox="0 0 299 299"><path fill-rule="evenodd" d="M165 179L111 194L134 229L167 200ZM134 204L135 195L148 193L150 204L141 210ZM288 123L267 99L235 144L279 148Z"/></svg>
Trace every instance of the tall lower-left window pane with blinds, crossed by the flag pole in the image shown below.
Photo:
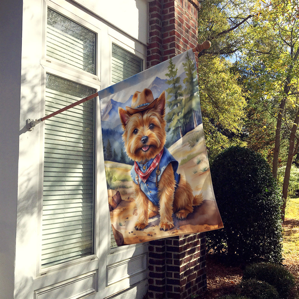
<svg viewBox="0 0 299 299"><path fill-rule="evenodd" d="M47 74L45 115L95 92ZM45 120L42 268L93 254L94 99Z"/></svg>

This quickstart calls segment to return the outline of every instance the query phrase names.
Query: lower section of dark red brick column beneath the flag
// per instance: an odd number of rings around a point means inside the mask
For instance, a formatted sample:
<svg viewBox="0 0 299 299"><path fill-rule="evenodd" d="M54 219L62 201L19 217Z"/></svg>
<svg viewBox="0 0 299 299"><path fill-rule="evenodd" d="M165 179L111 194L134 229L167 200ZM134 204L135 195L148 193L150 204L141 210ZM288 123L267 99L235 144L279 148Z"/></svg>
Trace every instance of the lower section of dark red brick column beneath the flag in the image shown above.
<svg viewBox="0 0 299 299"><path fill-rule="evenodd" d="M205 233L149 242L148 298L185 299L207 288Z"/></svg>

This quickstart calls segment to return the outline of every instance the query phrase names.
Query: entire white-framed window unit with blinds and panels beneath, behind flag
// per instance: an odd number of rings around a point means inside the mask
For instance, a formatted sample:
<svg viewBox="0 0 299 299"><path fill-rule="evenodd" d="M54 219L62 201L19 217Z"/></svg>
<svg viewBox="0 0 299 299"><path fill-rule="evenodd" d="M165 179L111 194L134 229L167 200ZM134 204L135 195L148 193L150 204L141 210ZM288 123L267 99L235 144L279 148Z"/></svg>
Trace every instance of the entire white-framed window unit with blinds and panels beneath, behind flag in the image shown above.
<svg viewBox="0 0 299 299"><path fill-rule="evenodd" d="M145 45L79 4L43 3L41 116L143 70ZM100 116L96 98L41 123L36 296L101 299L147 278L147 244L115 248L110 234Z"/></svg>

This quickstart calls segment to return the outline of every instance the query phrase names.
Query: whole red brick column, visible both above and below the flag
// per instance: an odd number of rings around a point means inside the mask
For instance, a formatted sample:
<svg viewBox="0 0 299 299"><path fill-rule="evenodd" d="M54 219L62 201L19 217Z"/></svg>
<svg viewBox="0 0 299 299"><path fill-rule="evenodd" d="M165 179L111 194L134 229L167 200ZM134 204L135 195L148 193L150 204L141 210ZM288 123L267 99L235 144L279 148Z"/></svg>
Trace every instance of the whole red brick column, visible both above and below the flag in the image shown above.
<svg viewBox="0 0 299 299"><path fill-rule="evenodd" d="M147 68L195 47L197 0L149 2ZM149 242L148 298L186 299L207 288L205 233Z"/></svg>

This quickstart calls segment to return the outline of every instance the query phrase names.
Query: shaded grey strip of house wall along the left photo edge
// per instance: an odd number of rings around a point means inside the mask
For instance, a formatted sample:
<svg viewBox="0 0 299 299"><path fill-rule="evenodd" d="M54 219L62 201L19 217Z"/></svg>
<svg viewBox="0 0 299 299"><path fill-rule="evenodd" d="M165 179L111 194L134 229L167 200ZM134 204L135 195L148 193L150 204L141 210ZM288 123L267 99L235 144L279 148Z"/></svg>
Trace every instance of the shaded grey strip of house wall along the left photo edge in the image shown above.
<svg viewBox="0 0 299 299"><path fill-rule="evenodd" d="M13 298L19 159L22 2L0 2L0 297Z"/></svg>

